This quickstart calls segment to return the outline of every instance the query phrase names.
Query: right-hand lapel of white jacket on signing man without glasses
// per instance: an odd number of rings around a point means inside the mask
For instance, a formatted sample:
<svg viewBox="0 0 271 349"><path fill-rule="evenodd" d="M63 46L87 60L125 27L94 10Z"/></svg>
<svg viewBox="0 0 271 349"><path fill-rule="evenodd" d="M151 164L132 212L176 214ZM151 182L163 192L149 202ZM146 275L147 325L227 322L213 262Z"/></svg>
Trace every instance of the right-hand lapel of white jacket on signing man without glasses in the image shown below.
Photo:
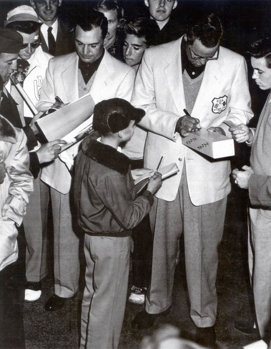
<svg viewBox="0 0 271 349"><path fill-rule="evenodd" d="M113 58L110 53L105 50L103 59L97 69L90 89L90 94L95 103L105 98L106 91L113 81L111 74L115 72L115 68L112 60Z"/></svg>

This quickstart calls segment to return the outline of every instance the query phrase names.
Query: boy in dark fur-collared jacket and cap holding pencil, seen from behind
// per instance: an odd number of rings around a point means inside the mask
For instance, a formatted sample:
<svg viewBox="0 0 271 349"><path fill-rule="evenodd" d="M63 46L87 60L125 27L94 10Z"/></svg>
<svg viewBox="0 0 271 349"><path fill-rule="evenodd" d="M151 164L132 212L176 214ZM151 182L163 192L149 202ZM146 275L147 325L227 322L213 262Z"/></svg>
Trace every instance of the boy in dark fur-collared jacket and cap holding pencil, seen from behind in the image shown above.
<svg viewBox="0 0 271 349"><path fill-rule="evenodd" d="M132 138L145 115L112 98L94 108L93 129L75 166L77 221L85 234L86 287L80 348L116 349L121 335L129 275L131 230L147 215L161 174L136 197L130 161L119 144ZM141 170L142 171L142 170Z"/></svg>

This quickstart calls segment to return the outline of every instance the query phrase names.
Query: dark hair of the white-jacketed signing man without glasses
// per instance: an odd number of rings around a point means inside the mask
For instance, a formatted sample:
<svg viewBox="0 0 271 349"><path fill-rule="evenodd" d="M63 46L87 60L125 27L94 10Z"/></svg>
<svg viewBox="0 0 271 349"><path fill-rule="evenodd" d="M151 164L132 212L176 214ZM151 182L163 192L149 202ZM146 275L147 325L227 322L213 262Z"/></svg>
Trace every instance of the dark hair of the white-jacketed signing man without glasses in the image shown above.
<svg viewBox="0 0 271 349"><path fill-rule="evenodd" d="M94 28L101 28L102 38L107 35L107 19L102 12L98 11L85 11L80 16L76 17L75 25L79 25L84 31L91 31Z"/></svg>

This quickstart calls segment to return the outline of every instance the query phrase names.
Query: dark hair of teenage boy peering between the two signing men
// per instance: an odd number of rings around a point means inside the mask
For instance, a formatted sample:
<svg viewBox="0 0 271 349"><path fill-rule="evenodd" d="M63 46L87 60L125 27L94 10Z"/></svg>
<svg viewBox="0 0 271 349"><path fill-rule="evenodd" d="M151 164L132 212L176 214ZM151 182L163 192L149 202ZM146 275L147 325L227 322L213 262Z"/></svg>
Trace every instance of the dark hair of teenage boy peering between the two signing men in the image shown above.
<svg viewBox="0 0 271 349"><path fill-rule="evenodd" d="M125 35L131 34L138 38L144 38L147 47L155 44L155 37L160 31L154 20L144 17L135 18L126 23L123 30Z"/></svg>

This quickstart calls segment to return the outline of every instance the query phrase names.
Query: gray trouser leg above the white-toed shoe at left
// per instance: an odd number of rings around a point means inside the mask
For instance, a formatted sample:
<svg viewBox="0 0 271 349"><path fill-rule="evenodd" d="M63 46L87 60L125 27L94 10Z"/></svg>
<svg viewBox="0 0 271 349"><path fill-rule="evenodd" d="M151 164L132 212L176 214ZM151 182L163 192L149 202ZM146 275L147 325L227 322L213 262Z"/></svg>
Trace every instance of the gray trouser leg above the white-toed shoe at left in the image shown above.
<svg viewBox="0 0 271 349"><path fill-rule="evenodd" d="M27 281L40 281L47 274L47 212L48 187L38 178L34 179L34 191L30 195L26 215L23 220L26 257L25 269Z"/></svg>

